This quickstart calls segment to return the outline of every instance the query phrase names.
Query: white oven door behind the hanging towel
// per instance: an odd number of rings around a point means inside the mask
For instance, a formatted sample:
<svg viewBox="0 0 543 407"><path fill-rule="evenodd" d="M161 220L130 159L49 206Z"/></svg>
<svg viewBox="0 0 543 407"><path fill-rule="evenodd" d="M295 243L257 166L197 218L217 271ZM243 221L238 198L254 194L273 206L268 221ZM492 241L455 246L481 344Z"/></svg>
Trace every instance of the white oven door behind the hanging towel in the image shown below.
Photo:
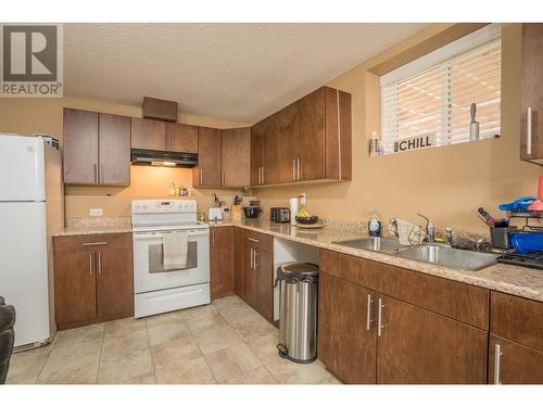
<svg viewBox="0 0 543 407"><path fill-rule="evenodd" d="M173 289L210 282L210 230L187 229L189 236L187 267L164 270L162 237L173 231L134 232L135 293Z"/></svg>

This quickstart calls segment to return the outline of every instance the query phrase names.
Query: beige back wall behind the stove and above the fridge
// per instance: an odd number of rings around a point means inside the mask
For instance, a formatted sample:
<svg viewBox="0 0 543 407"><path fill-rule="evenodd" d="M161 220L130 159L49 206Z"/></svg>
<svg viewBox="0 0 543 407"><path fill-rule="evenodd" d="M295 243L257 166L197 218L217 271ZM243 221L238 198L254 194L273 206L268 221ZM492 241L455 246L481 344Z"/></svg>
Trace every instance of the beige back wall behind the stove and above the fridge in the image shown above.
<svg viewBox="0 0 543 407"><path fill-rule="evenodd" d="M121 105L88 99L0 99L0 131L31 135L43 132L62 141L63 107L86 109L127 116L140 116L138 106ZM214 117L180 115L179 122L217 128L247 126L244 123L228 122ZM192 170L187 168L130 167L130 186L123 187L79 187L65 188L65 216L89 216L90 208L103 208L104 216L130 215L132 199L160 199L168 196L172 182L192 187ZM213 202L213 192L231 202L236 190L212 191L192 190L199 207L207 208Z"/></svg>

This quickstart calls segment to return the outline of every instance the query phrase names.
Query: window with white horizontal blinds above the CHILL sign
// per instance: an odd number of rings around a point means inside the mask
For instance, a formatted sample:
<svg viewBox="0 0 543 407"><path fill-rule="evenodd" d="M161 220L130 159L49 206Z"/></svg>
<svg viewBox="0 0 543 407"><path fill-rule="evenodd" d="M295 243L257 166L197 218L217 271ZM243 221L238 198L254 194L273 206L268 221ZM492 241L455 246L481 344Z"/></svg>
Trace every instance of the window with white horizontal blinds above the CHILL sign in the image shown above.
<svg viewBox="0 0 543 407"><path fill-rule="evenodd" d="M430 135L434 145L469 141L476 103L479 138L501 132L500 25L488 25L381 77L384 154L401 139Z"/></svg>

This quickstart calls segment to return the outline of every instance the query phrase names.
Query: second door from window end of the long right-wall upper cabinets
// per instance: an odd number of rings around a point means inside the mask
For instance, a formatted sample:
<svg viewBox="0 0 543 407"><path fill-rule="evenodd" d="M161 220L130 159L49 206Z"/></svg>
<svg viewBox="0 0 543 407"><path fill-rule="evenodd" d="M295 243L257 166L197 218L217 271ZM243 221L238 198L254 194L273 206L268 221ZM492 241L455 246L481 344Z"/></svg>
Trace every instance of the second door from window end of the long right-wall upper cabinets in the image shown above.
<svg viewBox="0 0 543 407"><path fill-rule="evenodd" d="M299 157L300 115L298 102L280 110L278 117L278 163L279 182L296 180L295 160Z"/></svg>

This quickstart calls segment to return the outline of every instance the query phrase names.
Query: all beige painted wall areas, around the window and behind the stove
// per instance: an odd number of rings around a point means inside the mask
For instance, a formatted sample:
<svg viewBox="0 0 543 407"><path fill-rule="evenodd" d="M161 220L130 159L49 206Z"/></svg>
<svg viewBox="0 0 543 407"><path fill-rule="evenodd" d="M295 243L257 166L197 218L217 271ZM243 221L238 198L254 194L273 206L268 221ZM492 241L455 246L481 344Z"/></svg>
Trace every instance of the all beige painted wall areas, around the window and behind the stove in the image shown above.
<svg viewBox="0 0 543 407"><path fill-rule="evenodd" d="M306 192L308 209L327 218L362 220L369 217L371 208L377 208L383 219L402 217L420 222L416 213L421 212L439 228L451 226L485 232L487 228L476 219L472 209L484 206L497 215L498 203L536 192L540 167L519 160L519 25L507 25L503 30L502 138L368 157L368 135L379 130L378 77L371 71L400 54L404 58L413 47L428 43L450 26L439 24L425 28L329 84L352 93L353 180L257 189L266 212L270 206L288 206L289 198ZM136 106L74 98L0 99L0 131L41 131L61 137L63 106L130 116L141 113ZM192 116L181 116L180 122L223 128L244 125ZM66 215L87 216L91 207L104 208L105 216L129 215L131 199L164 198L171 182L190 187L190 169L132 167L128 188L68 187ZM213 191L193 192L201 207L207 207ZM237 192L217 191L228 202Z"/></svg>

